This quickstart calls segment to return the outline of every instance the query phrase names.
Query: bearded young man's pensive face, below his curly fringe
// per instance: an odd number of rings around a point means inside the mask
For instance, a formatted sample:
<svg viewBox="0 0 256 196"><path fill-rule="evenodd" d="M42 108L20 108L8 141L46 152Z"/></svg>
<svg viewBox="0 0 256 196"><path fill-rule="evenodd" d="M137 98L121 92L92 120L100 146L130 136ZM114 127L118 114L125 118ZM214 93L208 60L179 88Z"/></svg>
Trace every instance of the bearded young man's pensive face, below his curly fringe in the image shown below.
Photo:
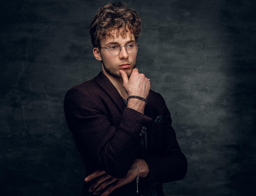
<svg viewBox="0 0 256 196"><path fill-rule="evenodd" d="M114 38L105 38L101 40L101 47L110 47L111 45L126 46L131 42L135 42L135 36L128 29L126 38L123 38L121 35L117 37L117 30L113 31ZM109 53L108 49L101 48L100 51L101 65L103 73L107 77L121 78L119 70L124 70L128 77L130 77L132 69L135 68L137 52L130 54L126 51L125 47L121 47L121 51L118 55L113 56Z"/></svg>

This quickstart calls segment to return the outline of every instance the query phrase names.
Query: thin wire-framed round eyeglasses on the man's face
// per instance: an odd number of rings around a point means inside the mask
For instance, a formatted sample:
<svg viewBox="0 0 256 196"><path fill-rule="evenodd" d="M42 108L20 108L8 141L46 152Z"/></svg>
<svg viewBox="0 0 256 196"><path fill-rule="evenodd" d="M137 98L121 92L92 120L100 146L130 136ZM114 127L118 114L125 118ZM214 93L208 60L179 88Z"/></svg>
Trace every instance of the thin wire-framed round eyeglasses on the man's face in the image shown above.
<svg viewBox="0 0 256 196"><path fill-rule="evenodd" d="M119 46L116 44L112 44L110 45L110 47L101 47L104 49L108 49L109 53L113 56L119 55L119 53L121 52L121 47L125 47L126 51L130 54L134 54L138 51L138 47L139 45L137 43L129 43L126 46Z"/></svg>

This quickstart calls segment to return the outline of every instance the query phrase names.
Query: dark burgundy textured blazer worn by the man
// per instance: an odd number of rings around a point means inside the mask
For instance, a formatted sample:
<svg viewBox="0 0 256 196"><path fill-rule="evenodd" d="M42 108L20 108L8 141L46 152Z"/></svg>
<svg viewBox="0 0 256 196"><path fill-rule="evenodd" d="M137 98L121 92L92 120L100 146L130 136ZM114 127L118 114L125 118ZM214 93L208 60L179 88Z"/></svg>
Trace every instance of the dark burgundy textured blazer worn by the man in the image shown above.
<svg viewBox="0 0 256 196"><path fill-rule="evenodd" d="M67 125L85 165L85 176L103 169L111 176L124 178L135 158L143 158L149 174L139 181L154 185L162 196L162 183L184 178L187 161L180 150L171 114L163 97L150 90L144 114L127 108L110 80L98 76L67 91L64 111ZM147 155L139 157L141 129L146 127ZM143 132L143 131L142 131ZM81 195L89 196L90 183L84 183ZM111 195L132 196L134 182Z"/></svg>

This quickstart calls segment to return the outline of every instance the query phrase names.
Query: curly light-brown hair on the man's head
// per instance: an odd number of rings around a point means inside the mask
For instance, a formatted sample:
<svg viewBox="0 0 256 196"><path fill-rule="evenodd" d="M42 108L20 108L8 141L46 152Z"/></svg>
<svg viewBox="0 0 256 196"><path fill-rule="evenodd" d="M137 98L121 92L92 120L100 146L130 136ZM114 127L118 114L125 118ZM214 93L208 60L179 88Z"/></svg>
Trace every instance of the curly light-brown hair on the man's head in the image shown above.
<svg viewBox="0 0 256 196"><path fill-rule="evenodd" d="M137 41L141 31L141 17L134 9L127 8L125 3L108 3L101 7L90 25L90 36L93 47L100 47L101 38L114 38L111 31L125 38L127 28L134 34Z"/></svg>

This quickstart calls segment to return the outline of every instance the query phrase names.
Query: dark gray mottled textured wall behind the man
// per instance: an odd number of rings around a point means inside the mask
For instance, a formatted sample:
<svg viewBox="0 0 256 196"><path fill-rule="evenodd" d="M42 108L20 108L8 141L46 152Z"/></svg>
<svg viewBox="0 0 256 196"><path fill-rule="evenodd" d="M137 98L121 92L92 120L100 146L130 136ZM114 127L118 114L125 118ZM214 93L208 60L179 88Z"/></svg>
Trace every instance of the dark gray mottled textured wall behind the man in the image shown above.
<svg viewBox="0 0 256 196"><path fill-rule="evenodd" d="M0 2L1 196L79 195L63 98L101 70L88 26L106 2ZM255 194L255 1L126 2L143 18L137 67L164 96L189 162L164 192Z"/></svg>

